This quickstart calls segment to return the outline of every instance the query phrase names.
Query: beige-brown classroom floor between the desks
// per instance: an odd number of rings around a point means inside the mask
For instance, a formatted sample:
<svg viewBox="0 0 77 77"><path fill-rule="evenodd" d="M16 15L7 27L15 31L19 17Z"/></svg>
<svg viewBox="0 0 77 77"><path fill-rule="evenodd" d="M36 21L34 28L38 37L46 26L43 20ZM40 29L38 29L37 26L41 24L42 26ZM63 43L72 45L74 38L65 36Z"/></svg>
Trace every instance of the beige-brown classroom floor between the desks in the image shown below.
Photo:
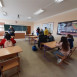
<svg viewBox="0 0 77 77"><path fill-rule="evenodd" d="M33 52L32 45L25 40L18 40L17 45L23 49L20 54L20 77L77 77L77 51L74 52L72 59L69 60L69 65L62 64L58 66L52 53L47 52L47 58L45 58L43 51Z"/></svg>

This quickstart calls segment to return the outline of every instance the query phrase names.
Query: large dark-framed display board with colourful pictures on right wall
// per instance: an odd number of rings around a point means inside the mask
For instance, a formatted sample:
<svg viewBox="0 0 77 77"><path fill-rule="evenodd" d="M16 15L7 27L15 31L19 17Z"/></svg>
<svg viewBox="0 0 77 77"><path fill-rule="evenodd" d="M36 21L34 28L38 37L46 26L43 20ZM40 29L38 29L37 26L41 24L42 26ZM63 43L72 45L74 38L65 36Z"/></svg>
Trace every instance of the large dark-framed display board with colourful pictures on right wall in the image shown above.
<svg viewBox="0 0 77 77"><path fill-rule="evenodd" d="M77 36L77 20L59 22L57 34L59 34L59 35L71 34L71 35Z"/></svg>

